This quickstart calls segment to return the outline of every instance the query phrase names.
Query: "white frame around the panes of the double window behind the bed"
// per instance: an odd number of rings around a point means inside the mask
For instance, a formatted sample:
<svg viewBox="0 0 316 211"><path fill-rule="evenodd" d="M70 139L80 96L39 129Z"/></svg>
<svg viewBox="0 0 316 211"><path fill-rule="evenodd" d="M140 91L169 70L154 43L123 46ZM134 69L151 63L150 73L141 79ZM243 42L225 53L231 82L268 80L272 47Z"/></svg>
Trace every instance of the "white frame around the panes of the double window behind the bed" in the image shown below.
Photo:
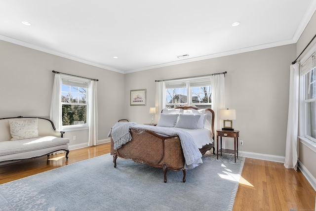
<svg viewBox="0 0 316 211"><path fill-rule="evenodd" d="M201 86L196 86L196 85L193 85L191 86L191 84L195 84L195 83L198 83L199 81L209 81L209 85L201 85ZM183 88L186 88L187 89L187 103L167 103L167 94L166 94L166 90L168 89L168 86L169 84L185 84L183 86ZM204 86L210 86L210 94L212 94L212 84L211 84L211 80L210 80L210 77L198 77L198 78L188 78L188 79L182 79L182 80L172 80L172 81L168 81L168 82L165 82L165 87L164 87L164 92L166 94L165 96L165 107L166 108L169 108L169 107L172 107L175 108L175 107L178 107L178 106L196 106L196 107L199 107L199 106L207 106L208 108L212 108L212 102L210 103L193 103L192 102L192 87L204 87ZM182 87L177 87L177 88L182 88Z"/></svg>

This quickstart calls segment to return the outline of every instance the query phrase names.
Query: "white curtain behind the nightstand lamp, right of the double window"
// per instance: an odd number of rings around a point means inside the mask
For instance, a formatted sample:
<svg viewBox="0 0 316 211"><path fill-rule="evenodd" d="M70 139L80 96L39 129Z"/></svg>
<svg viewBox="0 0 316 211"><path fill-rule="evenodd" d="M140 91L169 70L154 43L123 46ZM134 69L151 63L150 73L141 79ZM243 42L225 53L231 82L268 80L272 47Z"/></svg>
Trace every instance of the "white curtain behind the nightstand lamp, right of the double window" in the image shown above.
<svg viewBox="0 0 316 211"><path fill-rule="evenodd" d="M215 112L214 129L221 128L219 110L225 109L225 75L210 76L212 84L212 109ZM215 134L216 135L216 134Z"/></svg>

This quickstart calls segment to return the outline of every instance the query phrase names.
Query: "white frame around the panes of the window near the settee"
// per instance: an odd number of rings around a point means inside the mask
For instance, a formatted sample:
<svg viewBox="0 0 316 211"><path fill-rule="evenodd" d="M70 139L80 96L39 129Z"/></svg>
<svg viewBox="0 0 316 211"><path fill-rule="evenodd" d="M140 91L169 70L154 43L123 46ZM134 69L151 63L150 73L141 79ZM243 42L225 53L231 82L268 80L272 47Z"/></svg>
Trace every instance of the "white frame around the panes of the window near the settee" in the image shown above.
<svg viewBox="0 0 316 211"><path fill-rule="evenodd" d="M86 123L82 124L82 125L69 125L69 126L63 126L62 125L62 130L63 131L74 131L74 130L83 130L83 129L89 129L89 123L88 123L88 109L89 109L89 86L90 86L90 80L88 79L83 79L83 78L79 78L79 77L73 77L73 76L68 76L68 75L61 75L60 77L61 80L61 92L60 94L63 92L62 91L62 85L63 85L63 80L67 81L67 85L70 84L74 84L73 86L79 87L79 84L85 84L86 85L86 102L85 103L66 103L66 102L61 102L61 107L63 107L63 105L86 105ZM77 85L76 85L77 84ZM63 112L62 114L63 115Z"/></svg>

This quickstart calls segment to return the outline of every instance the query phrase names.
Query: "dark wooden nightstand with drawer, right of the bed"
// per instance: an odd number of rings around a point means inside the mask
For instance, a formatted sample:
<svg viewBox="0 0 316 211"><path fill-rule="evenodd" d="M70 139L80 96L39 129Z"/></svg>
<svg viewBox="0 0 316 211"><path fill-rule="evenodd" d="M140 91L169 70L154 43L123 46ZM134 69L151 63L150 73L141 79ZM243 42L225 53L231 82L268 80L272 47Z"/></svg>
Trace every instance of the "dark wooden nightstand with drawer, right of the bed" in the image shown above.
<svg viewBox="0 0 316 211"><path fill-rule="evenodd" d="M221 149L218 150L218 136L221 137ZM231 149L222 149L222 137L230 137L234 138L234 150ZM239 130L222 130L218 129L216 130L216 143L217 143L217 159L218 159L218 153L226 152L226 153L233 153L235 154L235 163L236 163L236 156L238 158L238 137L239 137ZM236 150L237 148L237 150Z"/></svg>

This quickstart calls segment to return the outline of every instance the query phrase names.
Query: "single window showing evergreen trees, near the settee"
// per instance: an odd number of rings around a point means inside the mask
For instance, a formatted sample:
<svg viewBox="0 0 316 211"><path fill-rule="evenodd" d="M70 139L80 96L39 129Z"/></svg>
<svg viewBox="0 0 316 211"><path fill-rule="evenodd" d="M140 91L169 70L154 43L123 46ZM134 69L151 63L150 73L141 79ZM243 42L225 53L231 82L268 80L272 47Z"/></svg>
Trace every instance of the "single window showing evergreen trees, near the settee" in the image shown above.
<svg viewBox="0 0 316 211"><path fill-rule="evenodd" d="M86 126L88 83L62 78L62 126Z"/></svg>

